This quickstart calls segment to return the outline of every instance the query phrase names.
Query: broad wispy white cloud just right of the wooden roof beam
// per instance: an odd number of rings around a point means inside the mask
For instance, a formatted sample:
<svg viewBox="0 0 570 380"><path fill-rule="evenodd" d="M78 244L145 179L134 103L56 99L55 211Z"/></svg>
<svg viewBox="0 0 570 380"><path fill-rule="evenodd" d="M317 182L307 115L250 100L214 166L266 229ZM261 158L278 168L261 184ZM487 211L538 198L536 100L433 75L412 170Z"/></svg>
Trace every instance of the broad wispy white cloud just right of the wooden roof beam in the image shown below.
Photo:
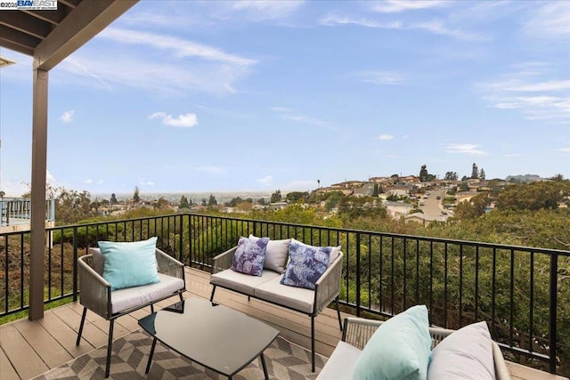
<svg viewBox="0 0 570 380"><path fill-rule="evenodd" d="M103 44L96 44L101 39ZM118 85L175 96L225 95L237 92L234 83L256 63L177 36L125 28L106 28L94 43L96 49L87 47L62 61L54 80L108 91Z"/></svg>

